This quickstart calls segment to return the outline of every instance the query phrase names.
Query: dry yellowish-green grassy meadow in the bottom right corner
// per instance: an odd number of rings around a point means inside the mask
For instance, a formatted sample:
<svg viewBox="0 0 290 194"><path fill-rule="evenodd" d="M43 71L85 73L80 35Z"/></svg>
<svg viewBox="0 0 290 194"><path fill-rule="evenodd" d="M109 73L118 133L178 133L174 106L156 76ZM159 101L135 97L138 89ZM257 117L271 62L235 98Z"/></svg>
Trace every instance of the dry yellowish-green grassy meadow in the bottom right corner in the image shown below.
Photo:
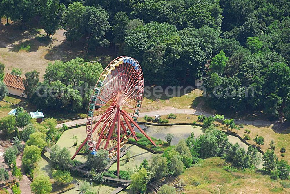
<svg viewBox="0 0 290 194"><path fill-rule="evenodd" d="M186 194L193 193L289 193L280 181L254 171L223 169L227 163L220 157L205 159L179 176L186 184ZM289 182L289 180L287 181ZM197 186L195 186L197 185Z"/></svg>

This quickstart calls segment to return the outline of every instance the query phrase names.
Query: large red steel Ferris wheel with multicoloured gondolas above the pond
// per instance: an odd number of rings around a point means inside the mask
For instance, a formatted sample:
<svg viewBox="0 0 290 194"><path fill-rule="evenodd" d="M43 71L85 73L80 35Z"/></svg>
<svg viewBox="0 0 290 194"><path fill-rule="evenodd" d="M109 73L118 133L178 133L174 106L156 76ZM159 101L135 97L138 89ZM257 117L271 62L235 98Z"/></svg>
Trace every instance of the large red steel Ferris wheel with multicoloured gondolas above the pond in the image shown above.
<svg viewBox="0 0 290 194"><path fill-rule="evenodd" d="M143 73L137 60L121 56L111 61L95 85L88 107L87 137L72 159L88 142L92 154L106 149L110 159L117 155L119 175L120 151L129 137L137 140L135 127L156 146L136 123L143 92Z"/></svg>

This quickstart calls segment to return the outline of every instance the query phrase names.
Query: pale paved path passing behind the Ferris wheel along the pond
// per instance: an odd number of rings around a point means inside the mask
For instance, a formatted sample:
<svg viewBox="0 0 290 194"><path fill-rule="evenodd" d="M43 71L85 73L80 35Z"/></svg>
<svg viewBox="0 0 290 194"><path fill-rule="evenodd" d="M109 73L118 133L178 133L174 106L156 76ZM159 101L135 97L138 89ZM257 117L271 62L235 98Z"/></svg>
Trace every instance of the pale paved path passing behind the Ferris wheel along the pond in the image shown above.
<svg viewBox="0 0 290 194"><path fill-rule="evenodd" d="M145 112L145 113L140 113L139 117L144 117L145 115L154 117L154 115L168 115L169 113L173 114L187 114L187 115L205 115L205 116L210 116L211 114L198 111L195 109L166 109L166 110L158 110L158 111L151 111L151 112ZM94 120L96 120L98 117L94 117ZM226 119L229 119L228 117L225 117ZM78 119L74 121L67 121L65 123L57 124L57 128L61 128L63 124L66 124L68 127L76 126L76 125L82 125L86 123L86 118L85 119ZM255 126L270 126L271 122L270 121L263 121L263 120L255 120L255 121L247 121L247 120L240 120L240 119L235 119L235 123L237 124L245 124L245 125L255 125Z"/></svg>

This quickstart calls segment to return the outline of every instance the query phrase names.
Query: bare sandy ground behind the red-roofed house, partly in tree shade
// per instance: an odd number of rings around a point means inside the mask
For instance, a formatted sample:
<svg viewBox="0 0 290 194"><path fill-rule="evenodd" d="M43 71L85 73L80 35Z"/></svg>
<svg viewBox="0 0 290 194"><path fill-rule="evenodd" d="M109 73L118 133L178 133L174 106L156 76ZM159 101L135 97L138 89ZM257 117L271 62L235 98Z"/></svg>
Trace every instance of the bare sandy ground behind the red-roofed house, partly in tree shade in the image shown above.
<svg viewBox="0 0 290 194"><path fill-rule="evenodd" d="M16 67L23 70L21 76L24 77L26 72L37 70L40 72L39 80L43 81L48 63L55 60L67 61L84 54L83 43L79 43L75 48L69 46L63 35L64 30L57 30L50 41L41 41L37 39L37 31L33 28L23 32L13 23L4 25L6 23L4 20L2 18L0 22L0 62L5 64L5 73L10 73L12 68ZM37 26L35 23L32 24L35 25ZM45 34L44 31L40 32ZM17 37L10 40L9 37L13 35ZM17 49L23 43L29 43L31 48L28 52Z"/></svg>

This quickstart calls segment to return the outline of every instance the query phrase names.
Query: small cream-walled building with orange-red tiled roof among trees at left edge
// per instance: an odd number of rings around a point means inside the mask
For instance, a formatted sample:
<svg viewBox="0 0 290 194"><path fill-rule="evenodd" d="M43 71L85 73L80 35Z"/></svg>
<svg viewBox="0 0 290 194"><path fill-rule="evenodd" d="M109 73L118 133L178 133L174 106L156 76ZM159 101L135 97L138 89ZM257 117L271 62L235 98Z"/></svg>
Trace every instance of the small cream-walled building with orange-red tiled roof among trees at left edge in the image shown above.
<svg viewBox="0 0 290 194"><path fill-rule="evenodd" d="M25 80L25 78L7 73L3 81L9 90L9 94L27 98L27 96L24 94L25 87L23 80Z"/></svg>

